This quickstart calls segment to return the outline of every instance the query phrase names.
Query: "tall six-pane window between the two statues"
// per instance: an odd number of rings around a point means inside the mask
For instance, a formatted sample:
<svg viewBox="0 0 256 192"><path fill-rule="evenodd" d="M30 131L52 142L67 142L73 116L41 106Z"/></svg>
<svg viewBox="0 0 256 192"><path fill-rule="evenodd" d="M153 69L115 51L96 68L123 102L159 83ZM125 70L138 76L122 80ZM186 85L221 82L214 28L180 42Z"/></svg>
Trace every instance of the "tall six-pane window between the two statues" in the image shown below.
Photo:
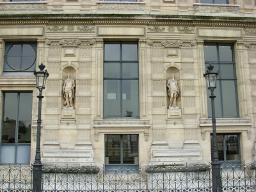
<svg viewBox="0 0 256 192"><path fill-rule="evenodd" d="M104 118L139 118L138 42L104 44Z"/></svg>

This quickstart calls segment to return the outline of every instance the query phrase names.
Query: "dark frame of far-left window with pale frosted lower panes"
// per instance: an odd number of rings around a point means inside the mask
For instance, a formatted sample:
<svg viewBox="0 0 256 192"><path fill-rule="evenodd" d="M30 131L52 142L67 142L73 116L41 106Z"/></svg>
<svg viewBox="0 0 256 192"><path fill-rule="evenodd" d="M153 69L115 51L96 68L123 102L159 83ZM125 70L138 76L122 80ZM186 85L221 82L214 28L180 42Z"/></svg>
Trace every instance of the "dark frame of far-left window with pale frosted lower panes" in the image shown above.
<svg viewBox="0 0 256 192"><path fill-rule="evenodd" d="M5 98L6 98L6 94L5 93L17 93L17 114L16 114L16 123L15 123L15 143L2 143L2 138L3 138L3 124L4 124L4 109L5 109ZM2 104L2 122L1 122L1 138L0 138L0 164L21 164L21 163L17 163L17 150L19 146L28 146L30 147L29 150L29 162L28 163L22 163L22 164L30 164L30 157L31 157L31 141L32 141L32 127L30 129L30 143L19 143L19 113L20 113L20 93L31 93L31 97L33 99L33 92L10 92L10 91L6 91L3 92L3 104ZM32 109L33 109L33 100L31 100L31 125L32 125ZM1 147L2 146L15 146L15 150L14 150L14 163L2 163L1 162Z"/></svg>

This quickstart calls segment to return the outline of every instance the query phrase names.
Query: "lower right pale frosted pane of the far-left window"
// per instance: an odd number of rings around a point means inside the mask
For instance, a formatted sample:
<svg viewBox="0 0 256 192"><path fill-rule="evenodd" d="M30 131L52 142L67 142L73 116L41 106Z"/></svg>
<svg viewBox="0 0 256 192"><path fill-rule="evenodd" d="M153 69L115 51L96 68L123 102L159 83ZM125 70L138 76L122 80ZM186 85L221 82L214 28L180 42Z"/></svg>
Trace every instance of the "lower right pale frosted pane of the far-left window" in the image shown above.
<svg viewBox="0 0 256 192"><path fill-rule="evenodd" d="M29 164L29 162L30 162L30 145L18 145L16 163Z"/></svg>

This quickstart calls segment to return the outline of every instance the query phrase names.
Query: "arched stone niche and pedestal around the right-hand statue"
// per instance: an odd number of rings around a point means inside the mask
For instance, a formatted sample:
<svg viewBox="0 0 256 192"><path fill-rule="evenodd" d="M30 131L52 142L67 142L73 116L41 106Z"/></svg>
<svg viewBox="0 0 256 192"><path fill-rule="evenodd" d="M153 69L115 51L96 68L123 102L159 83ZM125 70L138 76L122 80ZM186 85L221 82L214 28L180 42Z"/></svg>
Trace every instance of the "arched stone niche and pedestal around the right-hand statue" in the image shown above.
<svg viewBox="0 0 256 192"><path fill-rule="evenodd" d="M180 71L176 67L169 67L166 70L166 86L168 84L169 79L172 79L172 74L174 74L174 79L177 81L177 86L179 88L179 94L176 97L176 104L172 102L172 105L170 104L170 95L169 95L169 88L166 87L166 103L168 108L168 118L181 118L181 97L180 97ZM173 100L175 100L173 98ZM173 101L172 100L172 101ZM173 106L174 104L174 106Z"/></svg>

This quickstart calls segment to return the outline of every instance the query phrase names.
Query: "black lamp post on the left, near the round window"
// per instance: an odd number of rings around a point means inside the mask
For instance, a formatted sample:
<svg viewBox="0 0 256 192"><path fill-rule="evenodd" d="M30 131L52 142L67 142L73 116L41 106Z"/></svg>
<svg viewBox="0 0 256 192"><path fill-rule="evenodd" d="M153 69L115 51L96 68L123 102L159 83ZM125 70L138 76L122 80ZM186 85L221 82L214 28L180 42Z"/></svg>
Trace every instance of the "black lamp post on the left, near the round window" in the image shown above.
<svg viewBox="0 0 256 192"><path fill-rule="evenodd" d="M36 156L35 163L33 164L33 192L42 192L42 163L40 156L40 134L41 134L41 107L42 107L42 90L45 89L46 79L49 76L47 70L44 71L45 65L41 63L38 66L39 71L34 71L36 76L36 88L39 90L38 98L38 118L37 118L37 130L36 130Z"/></svg>

